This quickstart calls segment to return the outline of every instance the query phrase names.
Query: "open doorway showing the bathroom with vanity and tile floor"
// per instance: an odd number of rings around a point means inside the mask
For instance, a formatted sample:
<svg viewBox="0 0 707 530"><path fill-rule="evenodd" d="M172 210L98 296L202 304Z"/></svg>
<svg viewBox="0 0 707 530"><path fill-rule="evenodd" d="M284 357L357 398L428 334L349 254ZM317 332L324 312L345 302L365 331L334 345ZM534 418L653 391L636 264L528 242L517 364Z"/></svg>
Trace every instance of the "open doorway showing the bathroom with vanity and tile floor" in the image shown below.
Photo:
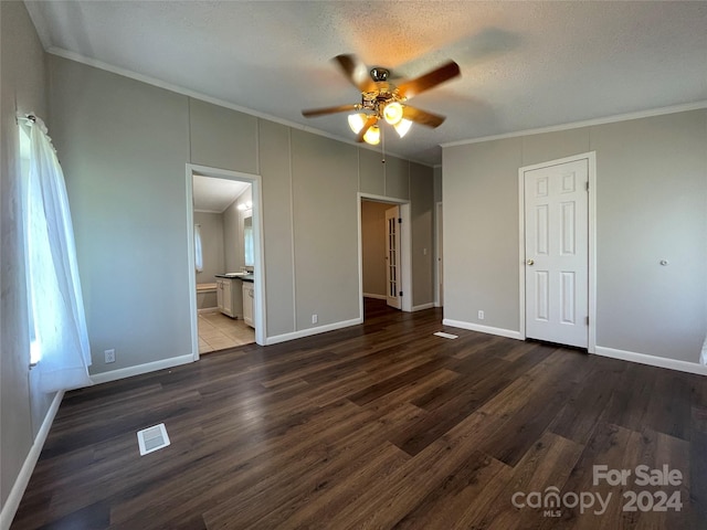
<svg viewBox="0 0 707 530"><path fill-rule="evenodd" d="M260 177L187 166L192 354L262 344Z"/></svg>

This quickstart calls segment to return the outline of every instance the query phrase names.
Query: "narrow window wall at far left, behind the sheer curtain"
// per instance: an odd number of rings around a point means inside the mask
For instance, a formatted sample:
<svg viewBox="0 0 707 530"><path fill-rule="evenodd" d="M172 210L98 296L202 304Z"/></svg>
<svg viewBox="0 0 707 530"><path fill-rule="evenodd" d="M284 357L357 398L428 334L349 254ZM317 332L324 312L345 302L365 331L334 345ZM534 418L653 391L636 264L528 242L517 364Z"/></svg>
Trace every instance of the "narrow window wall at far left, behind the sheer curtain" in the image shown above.
<svg viewBox="0 0 707 530"><path fill-rule="evenodd" d="M0 2L0 506L2 523L20 469L54 395L36 389L29 370L24 263L19 205L20 149L15 113L48 117L44 53L22 2ZM25 477L29 478L29 477ZM19 500L19 499L14 499Z"/></svg>

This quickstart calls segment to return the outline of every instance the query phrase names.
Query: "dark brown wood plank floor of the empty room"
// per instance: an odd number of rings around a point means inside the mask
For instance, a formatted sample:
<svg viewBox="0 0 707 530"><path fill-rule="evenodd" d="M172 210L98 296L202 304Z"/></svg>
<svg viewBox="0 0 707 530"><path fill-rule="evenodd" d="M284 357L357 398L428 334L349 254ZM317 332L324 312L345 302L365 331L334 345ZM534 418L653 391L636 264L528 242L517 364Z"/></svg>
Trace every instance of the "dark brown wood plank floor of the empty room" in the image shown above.
<svg viewBox="0 0 707 530"><path fill-rule="evenodd" d="M441 319L373 300L362 326L71 392L12 528L707 528L707 379Z"/></svg>

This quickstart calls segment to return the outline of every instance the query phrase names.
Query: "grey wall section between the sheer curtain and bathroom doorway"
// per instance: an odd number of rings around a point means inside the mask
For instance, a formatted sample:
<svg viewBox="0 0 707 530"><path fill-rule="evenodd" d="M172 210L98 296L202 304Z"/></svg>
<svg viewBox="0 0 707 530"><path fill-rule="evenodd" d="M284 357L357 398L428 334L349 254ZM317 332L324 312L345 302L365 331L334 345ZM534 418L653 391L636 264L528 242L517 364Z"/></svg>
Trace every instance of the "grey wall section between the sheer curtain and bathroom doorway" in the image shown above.
<svg viewBox="0 0 707 530"><path fill-rule="evenodd" d="M191 356L188 98L51 59L50 135L74 215L92 373Z"/></svg>

